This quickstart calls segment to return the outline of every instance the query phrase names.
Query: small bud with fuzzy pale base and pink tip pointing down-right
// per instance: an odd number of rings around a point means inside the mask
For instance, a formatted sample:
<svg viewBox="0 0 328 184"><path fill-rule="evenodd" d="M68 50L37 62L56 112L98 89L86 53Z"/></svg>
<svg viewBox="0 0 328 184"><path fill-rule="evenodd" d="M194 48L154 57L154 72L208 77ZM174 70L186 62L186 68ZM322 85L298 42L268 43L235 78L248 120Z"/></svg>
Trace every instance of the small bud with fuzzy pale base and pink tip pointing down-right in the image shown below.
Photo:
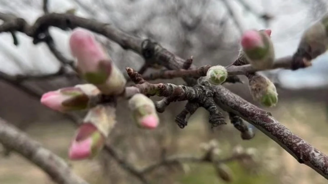
<svg viewBox="0 0 328 184"><path fill-rule="evenodd" d="M139 127L154 129L159 124L154 102L147 96L137 93L129 100L133 119Z"/></svg>

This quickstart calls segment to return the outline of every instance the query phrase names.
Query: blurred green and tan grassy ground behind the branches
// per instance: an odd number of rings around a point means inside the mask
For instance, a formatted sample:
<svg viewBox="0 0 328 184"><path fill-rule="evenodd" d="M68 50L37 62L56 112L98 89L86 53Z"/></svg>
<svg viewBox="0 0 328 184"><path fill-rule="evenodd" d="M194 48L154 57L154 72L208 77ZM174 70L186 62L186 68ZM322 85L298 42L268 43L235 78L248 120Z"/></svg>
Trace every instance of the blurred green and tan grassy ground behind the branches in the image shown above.
<svg viewBox="0 0 328 184"><path fill-rule="evenodd" d="M270 110L280 123L290 128L294 133L314 145L324 153L328 153L327 111L326 107L320 103L309 103L297 101L292 103L278 103L277 108ZM206 141L206 128L204 115L198 113L192 117L179 139L179 152L195 152L199 154L196 147L199 143ZM274 184L274 183L297 183L297 184L323 184L328 183L322 176L305 165L300 165L292 156L282 150L275 142L268 139L257 131L256 137L251 141L241 141L239 133L232 125L225 125L229 132L236 135L229 137L236 144L244 147L256 147L258 153L265 163L265 169L259 174L249 174L247 169L241 167L237 162L228 165L233 171L233 184ZM67 148L74 133L74 127L65 122L52 124L37 123L32 125L28 133L31 137L41 142L46 148L52 150L59 156L67 159ZM231 145L227 144L224 137L227 136L222 131L219 135L220 146L224 150L229 150ZM231 141L231 140L230 140ZM226 153L223 153L226 154ZM90 184L101 183L101 175L96 174L98 166L94 161L70 162L74 172L86 178ZM219 184L225 183L219 179L214 168L209 164L190 164L190 170L186 174L177 174L174 177L175 183L180 184ZM47 184L52 183L38 167L28 160L12 153L9 158L0 158L0 184ZM153 183L156 183L153 180Z"/></svg>

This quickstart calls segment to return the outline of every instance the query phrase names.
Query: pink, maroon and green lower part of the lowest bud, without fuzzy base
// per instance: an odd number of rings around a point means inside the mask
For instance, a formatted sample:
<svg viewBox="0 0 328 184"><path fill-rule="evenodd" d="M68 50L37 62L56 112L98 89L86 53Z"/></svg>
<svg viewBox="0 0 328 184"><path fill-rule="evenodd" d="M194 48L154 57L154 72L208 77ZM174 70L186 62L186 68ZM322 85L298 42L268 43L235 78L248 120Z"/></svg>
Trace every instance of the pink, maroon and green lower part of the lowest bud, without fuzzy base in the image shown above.
<svg viewBox="0 0 328 184"><path fill-rule="evenodd" d="M105 143L105 136L91 123L82 124L69 149L72 160L88 159L97 155Z"/></svg>

